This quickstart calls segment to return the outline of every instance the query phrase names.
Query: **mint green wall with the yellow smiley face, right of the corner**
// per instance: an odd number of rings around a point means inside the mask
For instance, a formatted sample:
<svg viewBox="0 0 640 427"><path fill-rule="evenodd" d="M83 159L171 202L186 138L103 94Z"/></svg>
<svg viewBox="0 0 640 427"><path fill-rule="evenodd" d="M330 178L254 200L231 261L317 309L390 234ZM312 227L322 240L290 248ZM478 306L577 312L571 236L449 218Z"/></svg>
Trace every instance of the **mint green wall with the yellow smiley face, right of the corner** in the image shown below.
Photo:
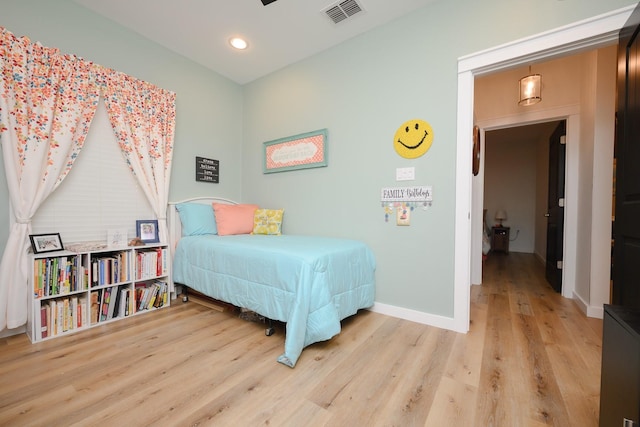
<svg viewBox="0 0 640 427"><path fill-rule="evenodd" d="M453 316L457 59L632 3L441 0L245 85L243 198L284 208L286 233L368 242L376 301ZM392 140L413 118L431 124L434 141L407 160ZM320 128L328 167L262 174L264 141ZM407 166L416 180L396 182ZM385 223L381 188L412 184L433 186L433 207L409 227Z"/></svg>

